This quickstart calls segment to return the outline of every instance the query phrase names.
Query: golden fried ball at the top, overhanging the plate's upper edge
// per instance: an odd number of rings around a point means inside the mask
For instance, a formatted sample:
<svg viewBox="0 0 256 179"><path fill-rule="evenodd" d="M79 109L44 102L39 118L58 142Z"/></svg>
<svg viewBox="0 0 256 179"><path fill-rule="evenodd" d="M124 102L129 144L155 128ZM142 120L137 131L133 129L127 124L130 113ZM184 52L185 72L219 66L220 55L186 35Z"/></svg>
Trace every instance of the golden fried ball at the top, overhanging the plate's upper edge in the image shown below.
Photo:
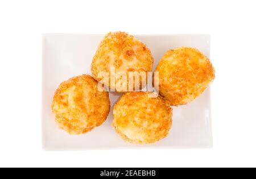
<svg viewBox="0 0 256 179"><path fill-rule="evenodd" d="M115 91L126 92L146 86L147 72L152 72L153 62L150 49L134 36L126 32L110 32L101 41L91 70L98 82ZM146 75L138 78L138 88L135 88L134 77L129 77L129 72L136 72L135 76Z"/></svg>

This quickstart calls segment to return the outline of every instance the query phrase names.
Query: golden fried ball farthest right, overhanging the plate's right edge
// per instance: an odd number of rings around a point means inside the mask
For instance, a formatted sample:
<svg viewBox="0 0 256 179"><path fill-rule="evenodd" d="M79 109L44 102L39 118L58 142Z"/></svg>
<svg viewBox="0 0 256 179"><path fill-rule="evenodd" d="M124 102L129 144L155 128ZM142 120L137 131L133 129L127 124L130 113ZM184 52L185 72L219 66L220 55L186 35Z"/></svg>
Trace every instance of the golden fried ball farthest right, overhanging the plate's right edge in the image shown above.
<svg viewBox="0 0 256 179"><path fill-rule="evenodd" d="M155 71L159 73L155 88L172 106L193 101L214 80L210 60L195 48L181 47L166 52Z"/></svg>

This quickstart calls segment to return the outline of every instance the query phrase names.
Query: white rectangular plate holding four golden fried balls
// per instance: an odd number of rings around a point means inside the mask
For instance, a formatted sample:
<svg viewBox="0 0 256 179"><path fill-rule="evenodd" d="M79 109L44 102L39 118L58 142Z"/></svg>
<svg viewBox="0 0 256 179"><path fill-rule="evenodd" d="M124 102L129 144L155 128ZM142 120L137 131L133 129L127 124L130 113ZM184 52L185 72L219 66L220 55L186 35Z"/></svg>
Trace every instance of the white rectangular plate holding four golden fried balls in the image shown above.
<svg viewBox="0 0 256 179"><path fill-rule="evenodd" d="M188 105L174 107L173 126L167 138L154 144L138 145L123 141L112 128L112 112L102 126L84 135L68 135L60 130L51 114L55 90L62 81L90 74L90 63L104 35L43 35L43 148L47 150L119 149L119 148L210 148L212 126L210 89ZM195 47L210 55L209 35L135 35L154 56L154 68L168 49ZM113 105L120 95L110 93Z"/></svg>

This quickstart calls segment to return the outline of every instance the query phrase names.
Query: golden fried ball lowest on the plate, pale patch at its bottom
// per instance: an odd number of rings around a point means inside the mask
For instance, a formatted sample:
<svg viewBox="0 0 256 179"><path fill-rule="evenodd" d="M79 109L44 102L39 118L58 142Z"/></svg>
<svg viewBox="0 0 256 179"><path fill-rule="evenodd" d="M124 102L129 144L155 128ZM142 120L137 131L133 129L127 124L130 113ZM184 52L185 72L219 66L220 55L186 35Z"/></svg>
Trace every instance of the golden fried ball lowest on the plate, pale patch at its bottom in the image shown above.
<svg viewBox="0 0 256 179"><path fill-rule="evenodd" d="M129 92L114 106L113 127L130 143L148 144L165 138L172 126L170 102L154 93Z"/></svg>

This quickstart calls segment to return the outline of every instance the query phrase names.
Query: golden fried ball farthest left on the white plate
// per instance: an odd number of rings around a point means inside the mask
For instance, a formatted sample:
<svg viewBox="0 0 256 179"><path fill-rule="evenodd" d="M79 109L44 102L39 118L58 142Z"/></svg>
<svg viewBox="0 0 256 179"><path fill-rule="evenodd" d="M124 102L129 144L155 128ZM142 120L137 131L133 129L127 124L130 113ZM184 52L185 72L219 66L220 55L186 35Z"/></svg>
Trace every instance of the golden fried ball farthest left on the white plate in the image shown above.
<svg viewBox="0 0 256 179"><path fill-rule="evenodd" d="M60 84L52 101L58 126L69 134L84 134L105 122L110 110L109 94L98 91L89 75L73 77Z"/></svg>

